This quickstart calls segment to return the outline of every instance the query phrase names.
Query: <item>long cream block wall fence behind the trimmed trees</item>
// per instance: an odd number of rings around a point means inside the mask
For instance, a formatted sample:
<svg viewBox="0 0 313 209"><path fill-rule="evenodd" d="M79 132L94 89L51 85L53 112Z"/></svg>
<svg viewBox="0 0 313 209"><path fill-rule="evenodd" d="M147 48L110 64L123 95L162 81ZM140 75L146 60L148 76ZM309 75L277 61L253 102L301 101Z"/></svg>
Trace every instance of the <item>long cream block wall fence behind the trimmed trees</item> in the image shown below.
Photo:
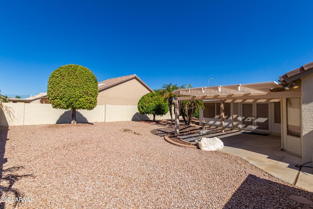
<svg viewBox="0 0 313 209"><path fill-rule="evenodd" d="M0 110L0 126L70 123L71 110L53 109L51 104L4 103ZM174 108L173 108L174 109ZM173 116L175 114L173 113ZM156 119L170 119L169 112ZM152 120L152 115L141 115L137 106L97 105L93 110L77 110L78 123Z"/></svg>

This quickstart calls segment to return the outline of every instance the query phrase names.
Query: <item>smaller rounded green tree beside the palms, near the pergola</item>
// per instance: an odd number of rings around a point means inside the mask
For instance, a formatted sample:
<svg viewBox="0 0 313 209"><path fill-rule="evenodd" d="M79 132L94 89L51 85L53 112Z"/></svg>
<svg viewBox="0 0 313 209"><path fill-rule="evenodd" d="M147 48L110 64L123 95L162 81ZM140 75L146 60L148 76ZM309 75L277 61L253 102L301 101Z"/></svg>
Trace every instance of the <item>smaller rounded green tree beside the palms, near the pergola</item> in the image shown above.
<svg viewBox="0 0 313 209"><path fill-rule="evenodd" d="M153 115L153 121L156 121L156 116L163 116L168 110L165 98L155 92L143 95L138 101L139 113Z"/></svg>

